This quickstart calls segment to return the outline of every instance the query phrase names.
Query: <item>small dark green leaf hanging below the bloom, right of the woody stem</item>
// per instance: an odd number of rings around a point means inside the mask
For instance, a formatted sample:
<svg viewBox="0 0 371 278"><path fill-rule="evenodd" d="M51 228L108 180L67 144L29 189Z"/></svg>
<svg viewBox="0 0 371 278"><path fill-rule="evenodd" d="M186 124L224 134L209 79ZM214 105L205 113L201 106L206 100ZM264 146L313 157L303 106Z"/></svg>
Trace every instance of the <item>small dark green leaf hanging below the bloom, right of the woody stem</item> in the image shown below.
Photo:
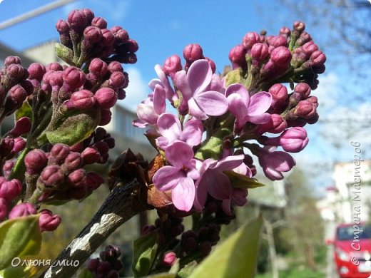
<svg viewBox="0 0 371 278"><path fill-rule="evenodd" d="M158 249L158 231L150 232L134 241L133 272L143 277L151 270Z"/></svg>

